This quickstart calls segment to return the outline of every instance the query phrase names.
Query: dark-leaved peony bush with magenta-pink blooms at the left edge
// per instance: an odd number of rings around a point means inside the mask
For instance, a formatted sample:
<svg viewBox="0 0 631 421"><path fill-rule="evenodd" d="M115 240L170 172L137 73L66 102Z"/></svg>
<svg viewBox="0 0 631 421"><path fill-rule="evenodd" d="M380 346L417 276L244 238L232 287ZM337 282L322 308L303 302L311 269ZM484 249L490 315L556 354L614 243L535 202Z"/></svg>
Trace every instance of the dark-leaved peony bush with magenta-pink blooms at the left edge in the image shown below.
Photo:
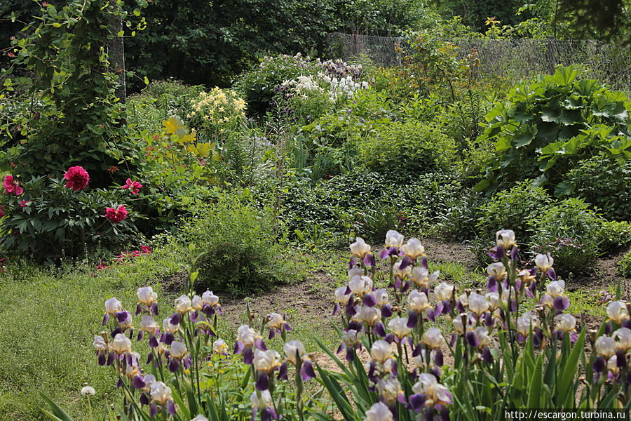
<svg viewBox="0 0 631 421"><path fill-rule="evenodd" d="M75 190L63 178L34 177L20 182L23 192L9 192L6 180L0 198L0 244L6 250L50 261L138 240L135 221L141 217L129 206L137 201L130 189Z"/></svg>

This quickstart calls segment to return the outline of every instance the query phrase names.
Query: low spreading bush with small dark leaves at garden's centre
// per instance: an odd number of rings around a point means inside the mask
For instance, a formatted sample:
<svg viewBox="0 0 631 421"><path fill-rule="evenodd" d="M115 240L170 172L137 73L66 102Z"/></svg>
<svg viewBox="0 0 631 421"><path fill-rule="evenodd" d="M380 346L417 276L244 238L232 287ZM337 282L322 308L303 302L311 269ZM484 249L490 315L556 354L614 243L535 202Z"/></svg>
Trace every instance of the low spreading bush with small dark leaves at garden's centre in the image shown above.
<svg viewBox="0 0 631 421"><path fill-rule="evenodd" d="M318 232L327 233L325 243L330 245L339 246L353 233L379 241L388 223L406 232L429 232L438 215L460 195L460 184L450 175L423 174L401 184L379 173L355 170L315 187L293 185L280 196L280 218L299 239L318 227Z"/></svg>

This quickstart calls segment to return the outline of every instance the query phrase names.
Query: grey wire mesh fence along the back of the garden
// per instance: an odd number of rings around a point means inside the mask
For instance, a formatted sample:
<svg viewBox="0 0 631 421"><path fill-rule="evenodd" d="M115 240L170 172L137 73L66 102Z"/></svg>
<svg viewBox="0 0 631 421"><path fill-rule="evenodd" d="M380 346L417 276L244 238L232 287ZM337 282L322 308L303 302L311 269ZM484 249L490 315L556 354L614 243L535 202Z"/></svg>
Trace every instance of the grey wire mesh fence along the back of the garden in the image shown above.
<svg viewBox="0 0 631 421"><path fill-rule="evenodd" d="M368 36L333 33L328 37L330 51L349 60L364 55L376 65L400 66L411 45L409 39L394 36ZM459 58L476 52L477 72L512 80L553 73L557 65L576 65L582 76L597 79L613 89L631 91L631 48L590 40L559 39L456 39Z"/></svg>

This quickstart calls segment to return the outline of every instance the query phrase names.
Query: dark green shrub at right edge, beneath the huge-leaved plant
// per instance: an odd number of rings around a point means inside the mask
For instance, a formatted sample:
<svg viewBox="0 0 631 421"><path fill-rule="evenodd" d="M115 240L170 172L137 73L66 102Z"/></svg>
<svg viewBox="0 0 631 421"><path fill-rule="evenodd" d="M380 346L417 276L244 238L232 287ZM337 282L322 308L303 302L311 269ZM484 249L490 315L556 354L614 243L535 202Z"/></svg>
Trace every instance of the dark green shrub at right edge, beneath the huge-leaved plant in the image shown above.
<svg viewBox="0 0 631 421"><path fill-rule="evenodd" d="M567 173L566 194L582 197L608 220L631 220L631 159L623 163L601 152Z"/></svg>

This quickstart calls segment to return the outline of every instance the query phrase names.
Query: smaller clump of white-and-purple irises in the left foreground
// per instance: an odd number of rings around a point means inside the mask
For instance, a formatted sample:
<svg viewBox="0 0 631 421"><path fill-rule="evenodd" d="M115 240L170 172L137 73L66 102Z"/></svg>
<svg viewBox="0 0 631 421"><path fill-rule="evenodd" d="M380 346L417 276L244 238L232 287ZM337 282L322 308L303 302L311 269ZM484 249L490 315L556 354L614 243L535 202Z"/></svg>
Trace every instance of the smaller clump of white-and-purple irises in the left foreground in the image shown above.
<svg viewBox="0 0 631 421"><path fill-rule="evenodd" d="M283 416L280 400L275 397L276 382L291 382L297 388L296 413L304 419L302 391L304 382L315 377L311 355L299 340L290 340L291 332L285 316L267 314L259 328L254 328L255 315L236 332L234 346L217 337L218 316L222 315L219 297L206 291L201 296L192 291L175 299L174 312L161 322L158 317L158 295L147 286L137 290L138 300L132 315L116 298L104 305L102 325L107 327L95 335L93 345L100 366L114 370L116 387L123 392L125 415L137 420L189 420L191 410L210 410L209 396L219 396L230 354L243 356L247 375L241 389L252 379L252 420L278 420ZM135 326L133 319L140 320ZM267 340L276 335L283 341L283 356L267 349L262 331L269 330ZM134 342L147 340L147 359L133 351ZM210 373L217 366L215 373ZM291 373L295 373L291 375ZM213 379L215 389L209 387ZM179 405L176 403L179 402ZM186 409L181 406L187 406ZM239 403L242 406L242 403ZM182 410L184 409L184 410ZM208 420L199 414L194 420Z"/></svg>

